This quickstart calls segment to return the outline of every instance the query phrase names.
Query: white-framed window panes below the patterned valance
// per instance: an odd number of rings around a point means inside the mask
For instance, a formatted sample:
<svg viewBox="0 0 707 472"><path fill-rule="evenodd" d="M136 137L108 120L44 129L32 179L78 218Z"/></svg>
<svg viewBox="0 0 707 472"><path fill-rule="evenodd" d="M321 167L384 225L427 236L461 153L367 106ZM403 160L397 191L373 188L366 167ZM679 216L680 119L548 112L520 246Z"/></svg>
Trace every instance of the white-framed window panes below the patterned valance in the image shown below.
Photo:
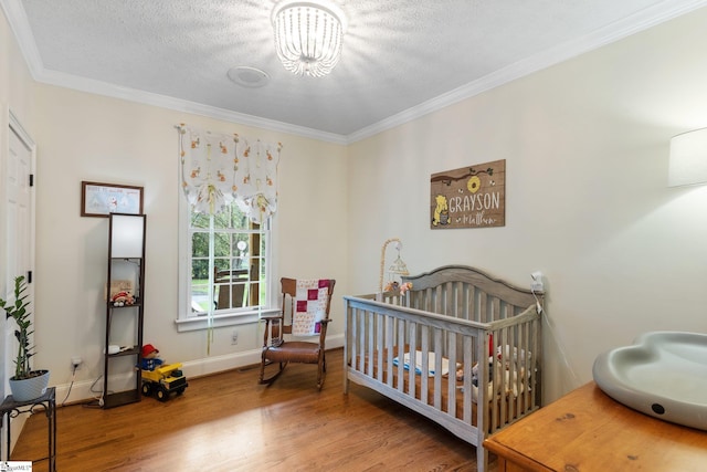
<svg viewBox="0 0 707 472"><path fill-rule="evenodd" d="M180 206L180 331L255 322L270 311L270 219L253 222L235 202L218 214Z"/></svg>

